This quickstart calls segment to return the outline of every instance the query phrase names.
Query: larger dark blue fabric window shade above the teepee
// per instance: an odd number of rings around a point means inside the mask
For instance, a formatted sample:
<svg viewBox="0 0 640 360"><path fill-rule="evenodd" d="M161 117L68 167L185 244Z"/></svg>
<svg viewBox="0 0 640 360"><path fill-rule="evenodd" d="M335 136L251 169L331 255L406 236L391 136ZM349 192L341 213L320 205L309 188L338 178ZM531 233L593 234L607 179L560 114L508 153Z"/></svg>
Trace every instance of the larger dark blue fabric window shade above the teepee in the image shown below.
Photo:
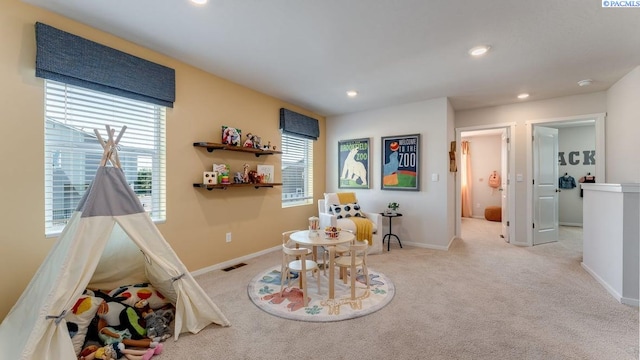
<svg viewBox="0 0 640 360"><path fill-rule="evenodd" d="M36 23L36 76L173 107L175 70Z"/></svg>

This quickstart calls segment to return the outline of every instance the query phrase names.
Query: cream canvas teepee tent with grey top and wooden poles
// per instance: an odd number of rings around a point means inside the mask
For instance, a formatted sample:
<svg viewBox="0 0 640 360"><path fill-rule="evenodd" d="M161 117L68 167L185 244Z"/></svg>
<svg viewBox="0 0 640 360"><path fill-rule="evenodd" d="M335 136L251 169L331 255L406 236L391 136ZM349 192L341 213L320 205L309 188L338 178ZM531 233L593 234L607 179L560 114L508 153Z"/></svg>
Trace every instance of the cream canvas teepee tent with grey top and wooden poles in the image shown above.
<svg viewBox="0 0 640 360"><path fill-rule="evenodd" d="M114 140L90 188L22 296L0 324L0 359L75 359L65 314L85 288L149 282L176 307L175 340L209 324L229 326L127 184ZM107 161L113 166L106 166Z"/></svg>

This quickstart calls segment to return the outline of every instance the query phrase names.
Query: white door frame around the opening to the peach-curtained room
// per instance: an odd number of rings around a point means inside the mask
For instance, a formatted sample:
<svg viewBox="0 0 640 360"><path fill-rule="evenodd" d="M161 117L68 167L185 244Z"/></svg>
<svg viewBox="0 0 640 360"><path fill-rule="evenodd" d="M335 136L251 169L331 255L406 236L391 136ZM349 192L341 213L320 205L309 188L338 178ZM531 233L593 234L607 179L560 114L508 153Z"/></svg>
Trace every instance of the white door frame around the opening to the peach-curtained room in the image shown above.
<svg viewBox="0 0 640 360"><path fill-rule="evenodd" d="M514 215L515 215L515 183L514 183L514 179L515 179L515 132L516 132L516 123L515 122L510 122L510 123L500 123L500 124L491 124L491 125L479 125L479 126L468 126L468 127L461 127L461 128L456 128L456 166L458 167L458 169L460 169L461 163L460 163L460 141L462 140L461 134L462 132L465 131L477 131L477 130L491 130L491 129L509 129L509 142L510 142L510 151L509 151L509 173L507 174L507 180L509 181L509 187L507 188L507 196L509 197L508 200L508 215L507 215L507 221L509 221L509 239L515 239L514 237L514 229L515 229L515 222L514 222ZM462 212L462 204L461 204L461 191L460 191L460 186L461 186L461 182L460 182L460 171L458 170L457 173L455 173L455 179L456 179L456 197L455 197L455 202L456 202L456 237L460 238L462 235L462 227L461 227L461 212ZM503 175L504 176L504 175Z"/></svg>

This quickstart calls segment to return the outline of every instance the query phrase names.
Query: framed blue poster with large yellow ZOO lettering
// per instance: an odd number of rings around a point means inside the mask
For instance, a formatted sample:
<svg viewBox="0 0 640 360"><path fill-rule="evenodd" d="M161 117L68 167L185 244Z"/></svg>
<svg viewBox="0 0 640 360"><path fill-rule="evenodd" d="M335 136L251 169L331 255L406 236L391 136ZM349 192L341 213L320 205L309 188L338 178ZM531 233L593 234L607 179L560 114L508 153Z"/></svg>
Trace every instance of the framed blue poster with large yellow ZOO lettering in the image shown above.
<svg viewBox="0 0 640 360"><path fill-rule="evenodd" d="M383 190L418 191L420 134L382 137Z"/></svg>

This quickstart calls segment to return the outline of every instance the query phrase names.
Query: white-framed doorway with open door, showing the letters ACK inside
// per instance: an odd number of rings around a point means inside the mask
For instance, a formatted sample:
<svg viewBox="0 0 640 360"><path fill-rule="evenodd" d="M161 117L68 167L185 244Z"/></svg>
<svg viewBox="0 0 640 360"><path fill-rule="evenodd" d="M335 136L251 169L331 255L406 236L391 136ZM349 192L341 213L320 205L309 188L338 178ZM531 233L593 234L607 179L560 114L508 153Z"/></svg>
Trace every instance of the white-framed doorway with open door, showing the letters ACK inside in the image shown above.
<svg viewBox="0 0 640 360"><path fill-rule="evenodd" d="M531 139L527 143L527 223L531 224L527 245L558 241L561 225L582 225L580 180L592 177L605 182L605 118L606 114L589 114L526 122ZM584 132L578 128L590 129L590 139L581 138ZM573 211L572 216L568 211Z"/></svg>

